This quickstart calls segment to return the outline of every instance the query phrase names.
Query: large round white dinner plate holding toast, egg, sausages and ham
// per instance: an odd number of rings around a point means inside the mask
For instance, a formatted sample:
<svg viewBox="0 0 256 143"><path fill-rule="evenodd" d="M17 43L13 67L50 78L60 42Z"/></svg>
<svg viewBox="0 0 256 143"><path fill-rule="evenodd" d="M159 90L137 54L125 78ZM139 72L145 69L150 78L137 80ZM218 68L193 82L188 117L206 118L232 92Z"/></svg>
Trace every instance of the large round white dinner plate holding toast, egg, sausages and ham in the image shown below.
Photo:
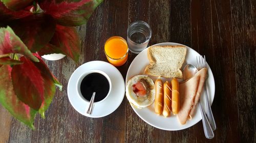
<svg viewBox="0 0 256 143"><path fill-rule="evenodd" d="M155 44L153 46L156 45L182 45L182 44L178 44L178 43L159 43L159 44ZM185 46L185 45L183 45ZM196 52L194 49L191 49L190 47L186 46L187 48L187 53L186 53L186 58L185 58L185 62L182 66L182 70L184 68L184 66L186 64L191 64L191 65L195 65L197 64L197 60L196 60L196 56L200 55L198 52ZM150 62L147 59L147 48L144 49L143 51L141 51L136 58L133 60L133 62L131 63L127 74L126 74L126 80L125 80L125 84L128 82L128 80L138 74L144 74L144 68L150 64ZM214 100L214 94L215 94L215 81L214 81L214 76L212 75L211 69L207 64L207 70L208 70L208 79L206 80L207 83L207 89L208 89L208 96L209 96L209 102L210 104L212 103L212 101ZM157 77L153 77L150 76L154 81L157 79ZM166 80L170 80L167 78L162 78L163 83ZM181 80L180 80L181 81ZM206 102L205 102L205 94L204 91L202 92L201 95L201 104L204 107L204 109L206 109ZM131 105L132 106L132 105ZM163 130L170 130L170 131L174 131L174 130L182 130L182 129L186 129L189 128L193 125L195 125L196 123L198 123L202 117L201 117L201 111L200 108L197 106L197 110L195 112L194 117L191 120L188 120L187 123L185 125L181 125L177 119L177 116L174 116L173 114L171 114L170 117L164 118L163 116L157 116L154 110L154 103L146 108L142 108L142 109L138 109L135 108L134 106L132 106L133 110L137 113L137 115L144 120L146 123L159 128L159 129L163 129Z"/></svg>

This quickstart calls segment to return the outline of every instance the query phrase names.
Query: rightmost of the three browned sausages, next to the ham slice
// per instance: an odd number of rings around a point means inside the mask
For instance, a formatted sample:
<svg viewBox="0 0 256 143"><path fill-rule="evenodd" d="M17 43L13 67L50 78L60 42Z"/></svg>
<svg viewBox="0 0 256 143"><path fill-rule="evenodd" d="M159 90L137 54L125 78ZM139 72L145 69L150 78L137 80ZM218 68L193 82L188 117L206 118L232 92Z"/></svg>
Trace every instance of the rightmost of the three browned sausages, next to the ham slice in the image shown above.
<svg viewBox="0 0 256 143"><path fill-rule="evenodd" d="M180 93L179 93L179 81L173 78L171 81L172 85L172 111L173 114L178 114L180 110Z"/></svg>

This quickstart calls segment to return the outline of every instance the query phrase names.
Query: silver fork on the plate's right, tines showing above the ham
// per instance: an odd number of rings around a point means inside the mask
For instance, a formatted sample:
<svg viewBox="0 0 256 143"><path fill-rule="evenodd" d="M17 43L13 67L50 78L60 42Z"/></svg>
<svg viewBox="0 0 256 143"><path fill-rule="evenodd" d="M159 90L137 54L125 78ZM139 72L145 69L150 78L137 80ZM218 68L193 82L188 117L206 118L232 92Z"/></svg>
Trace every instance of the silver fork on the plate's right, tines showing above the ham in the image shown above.
<svg viewBox="0 0 256 143"><path fill-rule="evenodd" d="M205 55L204 55L204 58L201 55L197 56L197 63L198 63L199 69L207 68ZM207 77L206 77L206 79L207 79ZM210 103L209 103L209 99L208 99L206 82L204 82L204 93L205 93L205 97L206 97L205 98L206 99L206 116L207 116L207 119L210 123L212 130L214 131L214 130L216 130L216 123L214 120L214 115L212 115L212 111L211 111L211 107L210 107Z"/></svg>

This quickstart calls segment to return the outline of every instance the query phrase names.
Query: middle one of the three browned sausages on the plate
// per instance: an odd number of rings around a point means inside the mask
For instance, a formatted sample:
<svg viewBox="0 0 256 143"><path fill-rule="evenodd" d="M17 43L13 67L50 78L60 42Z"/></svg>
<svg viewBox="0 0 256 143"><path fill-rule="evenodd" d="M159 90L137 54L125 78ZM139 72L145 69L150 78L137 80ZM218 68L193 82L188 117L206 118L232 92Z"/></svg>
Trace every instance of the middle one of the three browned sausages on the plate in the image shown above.
<svg viewBox="0 0 256 143"><path fill-rule="evenodd" d="M170 83L168 81L166 81L163 84L163 116L164 117L168 117L170 115L170 111L171 111L171 104L172 104L172 96L171 96L171 89L170 89Z"/></svg>

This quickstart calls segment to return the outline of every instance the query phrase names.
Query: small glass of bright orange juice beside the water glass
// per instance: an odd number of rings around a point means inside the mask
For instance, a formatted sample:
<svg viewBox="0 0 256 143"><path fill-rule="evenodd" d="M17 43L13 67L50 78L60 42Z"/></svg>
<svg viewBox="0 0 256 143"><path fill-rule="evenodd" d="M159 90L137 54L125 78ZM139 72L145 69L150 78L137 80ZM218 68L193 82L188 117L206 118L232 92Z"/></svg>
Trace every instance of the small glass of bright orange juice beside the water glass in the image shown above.
<svg viewBox="0 0 256 143"><path fill-rule="evenodd" d="M113 36L105 42L106 59L114 66L122 66L127 61L128 51L128 45L122 37Z"/></svg>

